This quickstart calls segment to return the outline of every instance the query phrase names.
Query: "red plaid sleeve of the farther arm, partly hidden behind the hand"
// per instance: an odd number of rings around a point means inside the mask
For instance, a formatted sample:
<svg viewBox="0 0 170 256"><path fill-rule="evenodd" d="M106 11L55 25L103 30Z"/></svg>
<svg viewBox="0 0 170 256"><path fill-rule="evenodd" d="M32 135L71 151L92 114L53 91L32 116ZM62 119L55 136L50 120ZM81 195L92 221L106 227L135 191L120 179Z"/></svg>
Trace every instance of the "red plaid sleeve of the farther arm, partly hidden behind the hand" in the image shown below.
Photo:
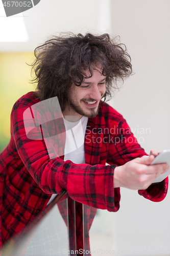
<svg viewBox="0 0 170 256"><path fill-rule="evenodd" d="M116 133L109 146L108 163L123 165L126 162L147 155L138 144L137 139L132 134L126 120L121 116ZM145 190L138 190L138 194L154 202L162 201L168 189L168 177L162 182L153 183Z"/></svg>

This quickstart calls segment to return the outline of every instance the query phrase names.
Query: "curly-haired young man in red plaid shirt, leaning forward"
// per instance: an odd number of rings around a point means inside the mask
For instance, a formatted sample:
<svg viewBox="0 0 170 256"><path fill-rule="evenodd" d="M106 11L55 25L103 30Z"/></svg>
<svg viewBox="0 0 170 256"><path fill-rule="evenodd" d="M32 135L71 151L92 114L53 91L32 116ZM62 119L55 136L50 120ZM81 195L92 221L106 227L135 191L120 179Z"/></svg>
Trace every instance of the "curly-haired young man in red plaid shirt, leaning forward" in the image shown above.
<svg viewBox="0 0 170 256"><path fill-rule="evenodd" d="M117 211L119 187L138 189L152 201L165 198L168 179L152 182L166 172L167 164L150 165L158 153L153 150L147 156L122 115L101 101L111 95L116 80L132 73L123 47L108 34L71 34L54 37L35 50L37 90L14 104L11 141L0 156L1 245L18 236L52 195L64 190L77 201L77 209L82 203ZM63 116L55 123L55 113L41 105L51 98L55 105L58 100ZM40 116L46 122L35 121Z"/></svg>

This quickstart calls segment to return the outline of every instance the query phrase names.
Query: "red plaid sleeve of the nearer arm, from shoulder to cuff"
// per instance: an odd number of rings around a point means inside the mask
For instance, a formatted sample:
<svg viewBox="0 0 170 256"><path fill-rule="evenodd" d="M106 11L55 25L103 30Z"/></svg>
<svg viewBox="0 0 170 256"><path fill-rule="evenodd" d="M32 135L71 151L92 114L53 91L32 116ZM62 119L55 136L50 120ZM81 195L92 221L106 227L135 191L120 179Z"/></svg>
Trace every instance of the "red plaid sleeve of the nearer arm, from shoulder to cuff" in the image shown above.
<svg viewBox="0 0 170 256"><path fill-rule="evenodd" d="M43 135L48 131L45 131L45 125L44 133L41 134L42 139L36 137L39 136L36 132L32 134L33 137L35 135L35 140L28 138L26 134L23 113L27 109L27 104L14 105L11 114L11 134L20 159L44 193L61 194L66 190L70 198L80 203L117 211L119 198L117 195L114 197L113 189L115 165L75 164L69 160L63 161L61 155L51 159L49 154L56 152L56 149L52 143L50 144L50 140L48 148L46 147ZM27 128L29 125L32 124L28 121ZM24 182L25 177L22 179Z"/></svg>

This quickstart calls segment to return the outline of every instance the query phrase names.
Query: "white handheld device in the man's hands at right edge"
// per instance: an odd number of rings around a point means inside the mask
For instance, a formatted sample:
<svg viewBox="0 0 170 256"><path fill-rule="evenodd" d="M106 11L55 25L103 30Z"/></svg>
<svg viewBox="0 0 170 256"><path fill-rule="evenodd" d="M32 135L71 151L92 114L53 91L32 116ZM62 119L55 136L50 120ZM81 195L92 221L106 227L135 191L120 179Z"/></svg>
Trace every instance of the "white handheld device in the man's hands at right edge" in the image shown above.
<svg viewBox="0 0 170 256"><path fill-rule="evenodd" d="M170 166L170 150L163 150L159 155L155 157L151 164L167 163ZM161 182L170 174L170 167L167 172L158 176L153 183Z"/></svg>

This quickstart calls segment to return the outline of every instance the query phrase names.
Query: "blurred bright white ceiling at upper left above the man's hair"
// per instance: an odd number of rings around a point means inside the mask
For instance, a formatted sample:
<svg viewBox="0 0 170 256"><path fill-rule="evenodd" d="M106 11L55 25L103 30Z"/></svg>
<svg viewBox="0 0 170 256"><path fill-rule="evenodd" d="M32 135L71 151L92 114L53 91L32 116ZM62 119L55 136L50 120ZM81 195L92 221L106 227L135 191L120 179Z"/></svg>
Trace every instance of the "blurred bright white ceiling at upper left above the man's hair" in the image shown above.
<svg viewBox="0 0 170 256"><path fill-rule="evenodd" d="M0 16L0 27L8 22L4 33L13 34L15 38L12 42L0 42L0 52L32 52L51 35L60 32L98 33L100 24L109 24L109 3L110 0L41 0L35 7L14 16L6 17L4 11ZM104 9L106 15L101 15ZM26 31L18 25L22 21ZM28 33L28 41L17 41L17 34L24 36L25 33ZM5 35L3 37L1 33L1 37L5 38Z"/></svg>

